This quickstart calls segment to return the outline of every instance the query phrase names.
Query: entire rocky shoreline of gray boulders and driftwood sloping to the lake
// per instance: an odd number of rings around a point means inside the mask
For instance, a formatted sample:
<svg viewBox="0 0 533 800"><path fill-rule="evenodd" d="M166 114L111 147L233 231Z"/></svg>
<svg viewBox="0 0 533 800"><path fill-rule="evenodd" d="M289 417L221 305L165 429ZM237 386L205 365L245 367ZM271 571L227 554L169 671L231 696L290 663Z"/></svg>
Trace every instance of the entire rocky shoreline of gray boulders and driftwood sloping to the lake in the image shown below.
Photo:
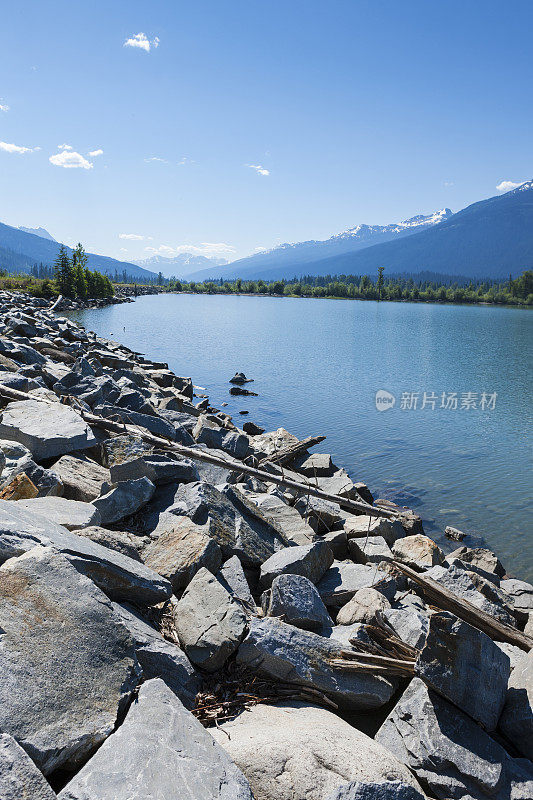
<svg viewBox="0 0 533 800"><path fill-rule="evenodd" d="M50 306L0 292L2 800L530 800L533 586Z"/></svg>

